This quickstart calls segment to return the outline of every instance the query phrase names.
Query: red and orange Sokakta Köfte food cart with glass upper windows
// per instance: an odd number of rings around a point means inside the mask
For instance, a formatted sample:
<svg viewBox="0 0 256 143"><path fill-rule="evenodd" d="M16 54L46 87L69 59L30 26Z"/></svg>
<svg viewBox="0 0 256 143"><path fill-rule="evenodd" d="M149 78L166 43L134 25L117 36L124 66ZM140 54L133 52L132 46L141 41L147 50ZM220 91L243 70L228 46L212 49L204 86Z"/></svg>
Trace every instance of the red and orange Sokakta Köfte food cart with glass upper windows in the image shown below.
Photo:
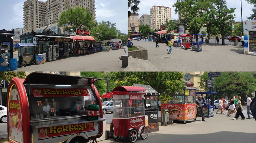
<svg viewBox="0 0 256 143"><path fill-rule="evenodd" d="M195 121L196 119L196 87L184 87L184 94L175 94L174 99L161 104L161 117L163 109L169 110L169 120Z"/></svg>

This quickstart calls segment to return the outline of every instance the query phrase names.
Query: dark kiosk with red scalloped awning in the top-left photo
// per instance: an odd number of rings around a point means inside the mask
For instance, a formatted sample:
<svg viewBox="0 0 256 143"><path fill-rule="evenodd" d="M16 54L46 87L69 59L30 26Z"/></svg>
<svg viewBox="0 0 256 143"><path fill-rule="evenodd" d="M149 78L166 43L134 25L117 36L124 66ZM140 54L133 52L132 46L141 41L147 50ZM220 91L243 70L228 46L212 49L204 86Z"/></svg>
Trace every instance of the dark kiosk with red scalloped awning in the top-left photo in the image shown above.
<svg viewBox="0 0 256 143"><path fill-rule="evenodd" d="M73 55L81 55L91 53L92 49L89 48L90 41L95 41L92 36L82 36L82 35L75 35L71 36L71 40L73 40Z"/></svg>

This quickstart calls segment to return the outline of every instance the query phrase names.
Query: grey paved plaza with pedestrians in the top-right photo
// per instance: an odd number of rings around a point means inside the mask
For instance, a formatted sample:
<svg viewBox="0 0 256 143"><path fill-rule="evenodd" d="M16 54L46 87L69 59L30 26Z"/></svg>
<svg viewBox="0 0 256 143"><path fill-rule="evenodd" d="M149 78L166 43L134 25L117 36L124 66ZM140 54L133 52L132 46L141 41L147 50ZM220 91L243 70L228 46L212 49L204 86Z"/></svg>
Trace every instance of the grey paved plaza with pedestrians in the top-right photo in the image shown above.
<svg viewBox="0 0 256 143"><path fill-rule="evenodd" d="M148 50L148 60L161 71L255 71L256 56L244 53L244 48L232 45L232 42L224 40L225 45L215 44L215 39L203 44L203 51L192 49L183 50L173 47L172 54L167 54L167 46L158 43L155 47L152 41L132 40L133 46L141 46ZM234 42L233 42L234 44Z"/></svg>

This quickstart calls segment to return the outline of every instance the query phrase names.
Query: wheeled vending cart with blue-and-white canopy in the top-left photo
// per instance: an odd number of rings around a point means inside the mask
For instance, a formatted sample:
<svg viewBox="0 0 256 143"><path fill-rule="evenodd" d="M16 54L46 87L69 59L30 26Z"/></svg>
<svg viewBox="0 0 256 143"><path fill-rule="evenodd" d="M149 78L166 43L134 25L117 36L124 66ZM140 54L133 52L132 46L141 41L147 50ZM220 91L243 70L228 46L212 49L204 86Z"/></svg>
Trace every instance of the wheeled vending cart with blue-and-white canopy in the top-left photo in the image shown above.
<svg viewBox="0 0 256 143"><path fill-rule="evenodd" d="M19 47L19 61L18 66L26 66L26 64L36 64L36 58L34 54L34 48L36 44L34 43L17 43L13 46Z"/></svg>

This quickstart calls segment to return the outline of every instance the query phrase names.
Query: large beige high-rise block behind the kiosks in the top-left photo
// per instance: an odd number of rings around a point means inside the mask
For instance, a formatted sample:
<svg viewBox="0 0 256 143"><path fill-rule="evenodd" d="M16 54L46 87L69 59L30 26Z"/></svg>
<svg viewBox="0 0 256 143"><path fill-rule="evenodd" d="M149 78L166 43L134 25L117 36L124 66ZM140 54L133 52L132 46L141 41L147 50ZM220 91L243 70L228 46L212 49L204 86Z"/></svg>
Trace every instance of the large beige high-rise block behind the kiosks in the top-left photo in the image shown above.
<svg viewBox="0 0 256 143"><path fill-rule="evenodd" d="M95 0L27 0L23 5L24 32L31 32L58 23L62 11L78 6L90 9L96 22Z"/></svg>

